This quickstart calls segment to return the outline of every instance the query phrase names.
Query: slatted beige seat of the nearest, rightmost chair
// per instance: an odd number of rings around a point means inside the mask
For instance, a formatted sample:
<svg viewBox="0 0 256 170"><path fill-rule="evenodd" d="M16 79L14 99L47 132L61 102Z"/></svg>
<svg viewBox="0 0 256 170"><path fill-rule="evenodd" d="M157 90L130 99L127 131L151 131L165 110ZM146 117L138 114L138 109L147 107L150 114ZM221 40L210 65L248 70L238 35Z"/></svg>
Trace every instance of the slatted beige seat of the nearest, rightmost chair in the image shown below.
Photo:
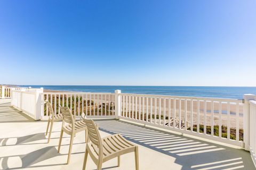
<svg viewBox="0 0 256 170"><path fill-rule="evenodd" d="M108 137L102 138L103 146L103 162L115 158L117 156L133 152L136 145L127 141L121 134L114 134ZM88 143L91 151L94 150L94 157L98 157L98 146L92 142Z"/></svg>

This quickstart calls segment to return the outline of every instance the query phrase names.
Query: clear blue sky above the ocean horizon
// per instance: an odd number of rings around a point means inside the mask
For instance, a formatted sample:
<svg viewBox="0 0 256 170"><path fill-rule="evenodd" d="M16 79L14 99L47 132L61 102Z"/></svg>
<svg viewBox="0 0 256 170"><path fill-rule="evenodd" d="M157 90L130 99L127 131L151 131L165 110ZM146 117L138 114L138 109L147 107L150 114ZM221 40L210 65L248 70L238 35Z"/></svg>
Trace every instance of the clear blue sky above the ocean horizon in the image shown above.
<svg viewBox="0 0 256 170"><path fill-rule="evenodd" d="M256 86L255 9L0 0L0 84Z"/></svg>

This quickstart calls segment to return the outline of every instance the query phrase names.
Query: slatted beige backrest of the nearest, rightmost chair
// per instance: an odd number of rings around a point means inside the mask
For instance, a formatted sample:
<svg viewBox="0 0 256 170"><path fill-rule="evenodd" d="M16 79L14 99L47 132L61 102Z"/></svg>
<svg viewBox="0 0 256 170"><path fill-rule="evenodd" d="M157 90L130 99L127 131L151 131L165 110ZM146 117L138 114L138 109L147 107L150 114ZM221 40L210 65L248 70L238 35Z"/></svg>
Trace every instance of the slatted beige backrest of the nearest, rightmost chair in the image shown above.
<svg viewBox="0 0 256 170"><path fill-rule="evenodd" d="M82 117L86 126L87 126L87 130L88 130L88 135L89 135L89 138L91 140L91 142L98 146L99 148L99 153L101 154L102 153L102 150L103 150L103 147L102 147L102 141L101 141L101 137L100 137L100 132L98 130L98 127L97 125L94 123L93 120L89 120L89 119L86 119L84 117ZM97 148L95 148L97 149ZM99 155L100 155L99 154Z"/></svg>

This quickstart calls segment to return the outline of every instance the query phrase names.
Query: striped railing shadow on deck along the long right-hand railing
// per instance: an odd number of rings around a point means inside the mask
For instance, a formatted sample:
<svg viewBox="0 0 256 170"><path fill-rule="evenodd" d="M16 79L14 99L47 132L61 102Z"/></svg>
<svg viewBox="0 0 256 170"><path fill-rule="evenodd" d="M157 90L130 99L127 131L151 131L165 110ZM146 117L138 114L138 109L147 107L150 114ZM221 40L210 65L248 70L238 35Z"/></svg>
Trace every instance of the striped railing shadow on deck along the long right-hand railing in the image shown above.
<svg viewBox="0 0 256 170"><path fill-rule="evenodd" d="M95 122L103 132L121 133L127 140L176 158L175 163L182 165L182 169L254 168L250 154L243 149L221 146L121 120Z"/></svg>

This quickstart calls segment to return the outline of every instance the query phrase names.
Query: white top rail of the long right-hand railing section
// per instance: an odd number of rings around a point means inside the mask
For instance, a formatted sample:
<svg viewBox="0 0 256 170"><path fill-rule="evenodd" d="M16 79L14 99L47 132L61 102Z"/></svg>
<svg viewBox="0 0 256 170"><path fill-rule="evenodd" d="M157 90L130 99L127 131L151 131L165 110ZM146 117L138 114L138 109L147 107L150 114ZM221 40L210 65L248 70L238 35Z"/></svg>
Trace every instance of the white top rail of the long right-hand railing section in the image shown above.
<svg viewBox="0 0 256 170"><path fill-rule="evenodd" d="M231 103L242 103L242 99L229 99L229 98L208 98L208 97L189 97L189 96L168 96L168 95L149 95L149 94L119 94L121 96L139 96L139 97L156 97L156 98L181 98L181 99L193 99L193 100L213 100L213 101L226 101Z"/></svg>

